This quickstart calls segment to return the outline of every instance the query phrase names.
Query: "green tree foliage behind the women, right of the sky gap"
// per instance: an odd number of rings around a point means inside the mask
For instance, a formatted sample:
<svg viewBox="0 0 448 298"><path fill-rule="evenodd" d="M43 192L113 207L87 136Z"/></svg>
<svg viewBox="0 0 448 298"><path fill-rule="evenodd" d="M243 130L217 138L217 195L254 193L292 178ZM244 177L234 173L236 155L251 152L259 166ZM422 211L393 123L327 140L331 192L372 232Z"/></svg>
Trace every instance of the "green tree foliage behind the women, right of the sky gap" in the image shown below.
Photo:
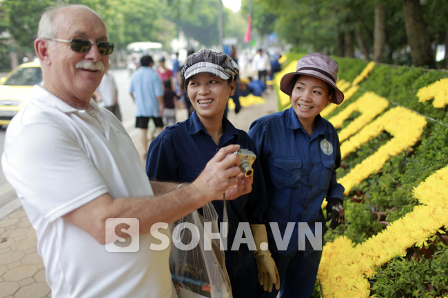
<svg viewBox="0 0 448 298"><path fill-rule="evenodd" d="M243 0L252 12L252 30L271 30L298 52L320 51L339 56L373 58L375 8L385 10L385 63L411 64L402 1L387 0ZM446 0L420 1L420 10L433 51L448 43ZM269 18L269 21L267 21ZM416 21L416 20L412 20ZM435 52L431 53L432 55Z"/></svg>

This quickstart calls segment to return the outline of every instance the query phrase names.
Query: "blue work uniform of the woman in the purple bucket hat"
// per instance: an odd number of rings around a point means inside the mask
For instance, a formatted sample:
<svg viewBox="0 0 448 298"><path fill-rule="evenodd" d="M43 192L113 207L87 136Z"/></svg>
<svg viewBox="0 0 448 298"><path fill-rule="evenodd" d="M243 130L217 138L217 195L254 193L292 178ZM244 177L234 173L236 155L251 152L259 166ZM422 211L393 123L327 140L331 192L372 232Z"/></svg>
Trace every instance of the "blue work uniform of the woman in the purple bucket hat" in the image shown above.
<svg viewBox="0 0 448 298"><path fill-rule="evenodd" d="M278 224L281 237L288 222L294 223L286 247L276 245L267 226L269 249L280 274L280 297L311 297L322 251L314 250L308 240L305 250L299 249L298 223L307 223L316 237L315 224L322 223L323 240L326 226L320 206L325 198L344 198L344 187L336 182L341 159L336 129L320 115L314 125L310 137L291 107L255 120L249 130L265 176L267 220ZM276 297L276 292L263 297Z"/></svg>

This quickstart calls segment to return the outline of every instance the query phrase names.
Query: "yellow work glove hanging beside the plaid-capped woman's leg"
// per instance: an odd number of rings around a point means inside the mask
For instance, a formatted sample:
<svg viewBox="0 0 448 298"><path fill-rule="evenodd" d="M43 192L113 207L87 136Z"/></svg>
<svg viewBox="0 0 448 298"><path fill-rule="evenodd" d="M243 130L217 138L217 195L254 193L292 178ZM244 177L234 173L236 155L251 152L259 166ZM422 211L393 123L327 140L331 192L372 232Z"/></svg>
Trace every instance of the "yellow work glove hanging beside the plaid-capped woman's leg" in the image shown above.
<svg viewBox="0 0 448 298"><path fill-rule="evenodd" d="M256 251L254 253L256 266L258 268L258 282L263 286L263 290L272 292L272 285L280 290L280 277L277 266L271 257L271 252L267 243L267 232L264 224L251 224L250 228L254 234Z"/></svg>

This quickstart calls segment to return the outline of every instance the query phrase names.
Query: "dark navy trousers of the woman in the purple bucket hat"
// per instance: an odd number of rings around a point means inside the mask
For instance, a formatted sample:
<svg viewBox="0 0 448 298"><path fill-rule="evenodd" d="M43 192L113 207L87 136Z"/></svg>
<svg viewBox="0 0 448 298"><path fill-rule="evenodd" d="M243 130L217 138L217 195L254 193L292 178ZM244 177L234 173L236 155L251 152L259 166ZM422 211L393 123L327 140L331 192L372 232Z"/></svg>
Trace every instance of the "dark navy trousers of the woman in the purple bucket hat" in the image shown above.
<svg viewBox="0 0 448 298"><path fill-rule="evenodd" d="M313 294L322 251L305 256L297 251L294 256L271 252L280 276L280 298L309 298ZM278 290L263 292L259 298L276 298Z"/></svg>

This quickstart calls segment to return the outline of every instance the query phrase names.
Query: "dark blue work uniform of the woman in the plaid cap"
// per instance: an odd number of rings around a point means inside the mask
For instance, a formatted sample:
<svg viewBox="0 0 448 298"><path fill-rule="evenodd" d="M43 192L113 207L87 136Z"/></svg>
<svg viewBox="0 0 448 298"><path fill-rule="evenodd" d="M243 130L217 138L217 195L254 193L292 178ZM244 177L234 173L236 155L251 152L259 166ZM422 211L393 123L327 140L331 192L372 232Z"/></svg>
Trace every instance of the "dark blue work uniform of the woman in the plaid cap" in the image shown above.
<svg viewBox="0 0 448 298"><path fill-rule="evenodd" d="M254 142L245 131L236 129L226 118L223 118L223 128L223 136L219 139L218 146L205 130L196 111L190 119L165 128L151 142L146 160L147 176L150 180L157 181L192 182L221 147L239 144L242 149L256 153ZM240 222L264 224L267 199L258 158L252 167L254 169L252 192L227 202L229 233L225 266L235 298L256 297L258 285L254 251L250 251L247 244L241 244L238 251L231 251ZM218 213L218 222L221 223L223 201L213 201L212 204Z"/></svg>

